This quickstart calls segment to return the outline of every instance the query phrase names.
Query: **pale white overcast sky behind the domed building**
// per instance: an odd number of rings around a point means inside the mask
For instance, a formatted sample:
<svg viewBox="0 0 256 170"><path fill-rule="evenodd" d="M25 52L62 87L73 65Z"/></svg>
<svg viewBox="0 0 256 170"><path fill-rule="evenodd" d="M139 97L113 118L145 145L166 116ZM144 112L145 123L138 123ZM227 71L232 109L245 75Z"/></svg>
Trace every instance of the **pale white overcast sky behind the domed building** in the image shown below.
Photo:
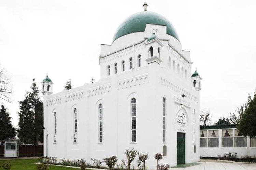
<svg viewBox="0 0 256 170"><path fill-rule="evenodd" d="M32 78L46 73L54 92L100 78L100 44L111 44L119 24L143 11L144 0L1 0L0 64L11 77L9 109L18 124L18 101ZM162 14L177 30L183 50L191 51L192 72L203 78L201 110L214 123L247 101L256 87L256 1L147 0L148 11ZM0 101L1 103L1 101Z"/></svg>

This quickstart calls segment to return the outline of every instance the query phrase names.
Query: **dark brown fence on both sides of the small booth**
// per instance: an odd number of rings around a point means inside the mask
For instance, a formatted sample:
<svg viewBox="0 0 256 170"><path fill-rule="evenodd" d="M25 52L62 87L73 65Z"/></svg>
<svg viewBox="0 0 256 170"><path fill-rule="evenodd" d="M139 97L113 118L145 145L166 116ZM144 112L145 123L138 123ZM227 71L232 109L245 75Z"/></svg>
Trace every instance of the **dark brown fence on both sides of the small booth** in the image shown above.
<svg viewBox="0 0 256 170"><path fill-rule="evenodd" d="M44 155L43 145L20 145L19 157L42 157ZM4 157L4 145L0 145L0 157Z"/></svg>

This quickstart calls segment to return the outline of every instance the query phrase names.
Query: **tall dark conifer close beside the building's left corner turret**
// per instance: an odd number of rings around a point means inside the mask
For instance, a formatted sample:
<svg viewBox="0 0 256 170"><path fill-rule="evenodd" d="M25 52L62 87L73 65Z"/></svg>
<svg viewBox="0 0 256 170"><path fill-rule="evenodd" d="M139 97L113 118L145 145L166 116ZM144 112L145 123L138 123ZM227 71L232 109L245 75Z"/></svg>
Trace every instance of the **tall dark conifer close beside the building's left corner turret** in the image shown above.
<svg viewBox="0 0 256 170"><path fill-rule="evenodd" d="M21 142L34 145L43 142L43 103L40 101L38 86L33 78L32 92L26 92L20 101L18 136Z"/></svg>

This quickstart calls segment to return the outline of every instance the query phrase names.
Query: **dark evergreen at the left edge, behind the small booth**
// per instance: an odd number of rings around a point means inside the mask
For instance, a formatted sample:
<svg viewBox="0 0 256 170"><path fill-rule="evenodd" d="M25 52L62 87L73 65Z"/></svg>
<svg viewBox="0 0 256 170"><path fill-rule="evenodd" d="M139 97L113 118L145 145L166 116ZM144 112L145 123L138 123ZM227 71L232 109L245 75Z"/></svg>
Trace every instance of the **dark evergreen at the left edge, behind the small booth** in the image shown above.
<svg viewBox="0 0 256 170"><path fill-rule="evenodd" d="M3 145L3 140L12 139L15 137L16 129L12 126L10 113L1 105L0 111L0 140Z"/></svg>

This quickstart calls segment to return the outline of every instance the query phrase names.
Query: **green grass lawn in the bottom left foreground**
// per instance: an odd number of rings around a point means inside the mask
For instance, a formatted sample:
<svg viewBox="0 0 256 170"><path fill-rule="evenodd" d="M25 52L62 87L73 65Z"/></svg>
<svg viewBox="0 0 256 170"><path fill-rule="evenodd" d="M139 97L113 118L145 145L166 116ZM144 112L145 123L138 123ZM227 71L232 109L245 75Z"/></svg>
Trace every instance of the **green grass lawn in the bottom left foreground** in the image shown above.
<svg viewBox="0 0 256 170"><path fill-rule="evenodd" d="M12 160L0 160L0 165L4 162L10 161L12 163L11 170L36 170L37 164L32 164L39 162L37 159L12 159ZM0 166L1 169L1 166ZM76 168L50 166L49 170L75 170ZM79 169L77 169L79 170Z"/></svg>

